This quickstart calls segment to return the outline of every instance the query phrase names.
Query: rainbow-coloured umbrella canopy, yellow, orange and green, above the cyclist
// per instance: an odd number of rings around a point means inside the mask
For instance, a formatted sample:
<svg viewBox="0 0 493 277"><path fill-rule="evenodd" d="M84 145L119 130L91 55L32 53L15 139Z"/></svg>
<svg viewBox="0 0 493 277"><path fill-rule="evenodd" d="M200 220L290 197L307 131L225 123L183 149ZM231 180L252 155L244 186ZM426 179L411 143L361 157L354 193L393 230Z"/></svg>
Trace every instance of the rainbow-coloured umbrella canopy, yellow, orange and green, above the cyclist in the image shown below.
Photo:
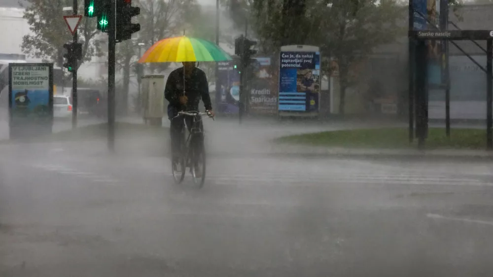
<svg viewBox="0 0 493 277"><path fill-rule="evenodd" d="M187 36L161 39L139 59L139 63L221 62L231 57L212 42Z"/></svg>

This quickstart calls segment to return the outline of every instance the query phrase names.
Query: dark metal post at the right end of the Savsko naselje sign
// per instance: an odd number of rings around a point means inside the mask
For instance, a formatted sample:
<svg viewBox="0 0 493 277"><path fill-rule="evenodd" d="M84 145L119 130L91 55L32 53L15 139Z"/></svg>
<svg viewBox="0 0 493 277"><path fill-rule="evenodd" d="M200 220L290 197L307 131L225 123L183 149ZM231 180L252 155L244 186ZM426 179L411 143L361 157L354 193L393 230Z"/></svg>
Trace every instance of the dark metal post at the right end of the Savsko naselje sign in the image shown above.
<svg viewBox="0 0 493 277"><path fill-rule="evenodd" d="M487 61L486 61L486 149L493 150L493 108L492 108L492 73L493 73L493 39L488 39L487 44Z"/></svg>

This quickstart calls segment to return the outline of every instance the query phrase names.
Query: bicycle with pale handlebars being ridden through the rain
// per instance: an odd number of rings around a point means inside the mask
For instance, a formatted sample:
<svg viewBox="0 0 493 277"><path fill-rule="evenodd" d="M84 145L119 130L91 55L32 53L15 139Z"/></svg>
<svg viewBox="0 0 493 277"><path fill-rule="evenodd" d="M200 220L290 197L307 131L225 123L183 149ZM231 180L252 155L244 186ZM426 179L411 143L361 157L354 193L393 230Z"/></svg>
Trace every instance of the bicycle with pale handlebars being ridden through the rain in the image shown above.
<svg viewBox="0 0 493 277"><path fill-rule="evenodd" d="M206 153L204 147L204 130L200 128L201 126L197 126L197 124L202 120L202 115L207 115L207 117L211 117L212 120L214 118L211 116L210 112L198 112L198 111L180 111L174 117L178 117L180 115L192 116L192 127L190 128L190 132L188 134L188 138L186 140L181 140L180 143L180 157L178 162L172 161L172 171L173 178L177 184L180 184L185 178L185 172L187 168L190 168L190 173L193 177L193 182L199 185L199 188L204 186L204 182L206 180ZM197 118L200 118L197 120ZM183 118L184 120L184 118ZM186 128L183 128L183 132L185 132ZM192 147L193 145L197 145L198 149ZM198 152L198 153L197 153ZM179 165L179 168L178 168ZM201 168L202 175L197 176L196 168Z"/></svg>

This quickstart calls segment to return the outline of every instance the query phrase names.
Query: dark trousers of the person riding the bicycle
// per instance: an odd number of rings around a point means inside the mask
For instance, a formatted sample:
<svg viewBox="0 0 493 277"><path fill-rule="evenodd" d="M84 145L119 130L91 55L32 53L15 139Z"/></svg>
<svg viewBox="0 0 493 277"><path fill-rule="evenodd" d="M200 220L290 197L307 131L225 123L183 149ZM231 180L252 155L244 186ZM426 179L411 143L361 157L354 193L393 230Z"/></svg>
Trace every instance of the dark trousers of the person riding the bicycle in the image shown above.
<svg viewBox="0 0 493 277"><path fill-rule="evenodd" d="M184 119L184 121L183 121ZM177 158L180 155L180 144L185 141L185 123L189 133L196 132L200 130L200 134L193 134L193 141L191 141L192 147L198 149L196 147L201 147L202 143L204 143L204 126L202 125L200 115L195 116L195 124L194 117L188 115L179 115L175 118L171 118L171 149L173 153L173 157ZM194 126L195 125L195 126ZM192 130L194 127L194 130Z"/></svg>

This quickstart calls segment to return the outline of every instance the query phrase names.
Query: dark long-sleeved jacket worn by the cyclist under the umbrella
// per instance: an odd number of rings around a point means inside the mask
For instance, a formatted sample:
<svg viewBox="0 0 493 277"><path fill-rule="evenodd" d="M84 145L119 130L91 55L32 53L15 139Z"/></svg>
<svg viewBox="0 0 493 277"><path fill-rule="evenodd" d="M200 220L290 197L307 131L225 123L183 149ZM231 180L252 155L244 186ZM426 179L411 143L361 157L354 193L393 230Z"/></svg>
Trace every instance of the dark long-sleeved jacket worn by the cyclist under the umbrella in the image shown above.
<svg viewBox="0 0 493 277"><path fill-rule="evenodd" d="M164 97L170 103L170 107L176 110L195 110L199 109L199 102L202 98L206 110L211 110L211 97L209 96L209 83L206 73L202 69L194 68L189 78L183 80L183 67L173 70L168 76ZM188 98L186 106L179 102L179 97L183 95L183 83L185 85L185 96Z"/></svg>

